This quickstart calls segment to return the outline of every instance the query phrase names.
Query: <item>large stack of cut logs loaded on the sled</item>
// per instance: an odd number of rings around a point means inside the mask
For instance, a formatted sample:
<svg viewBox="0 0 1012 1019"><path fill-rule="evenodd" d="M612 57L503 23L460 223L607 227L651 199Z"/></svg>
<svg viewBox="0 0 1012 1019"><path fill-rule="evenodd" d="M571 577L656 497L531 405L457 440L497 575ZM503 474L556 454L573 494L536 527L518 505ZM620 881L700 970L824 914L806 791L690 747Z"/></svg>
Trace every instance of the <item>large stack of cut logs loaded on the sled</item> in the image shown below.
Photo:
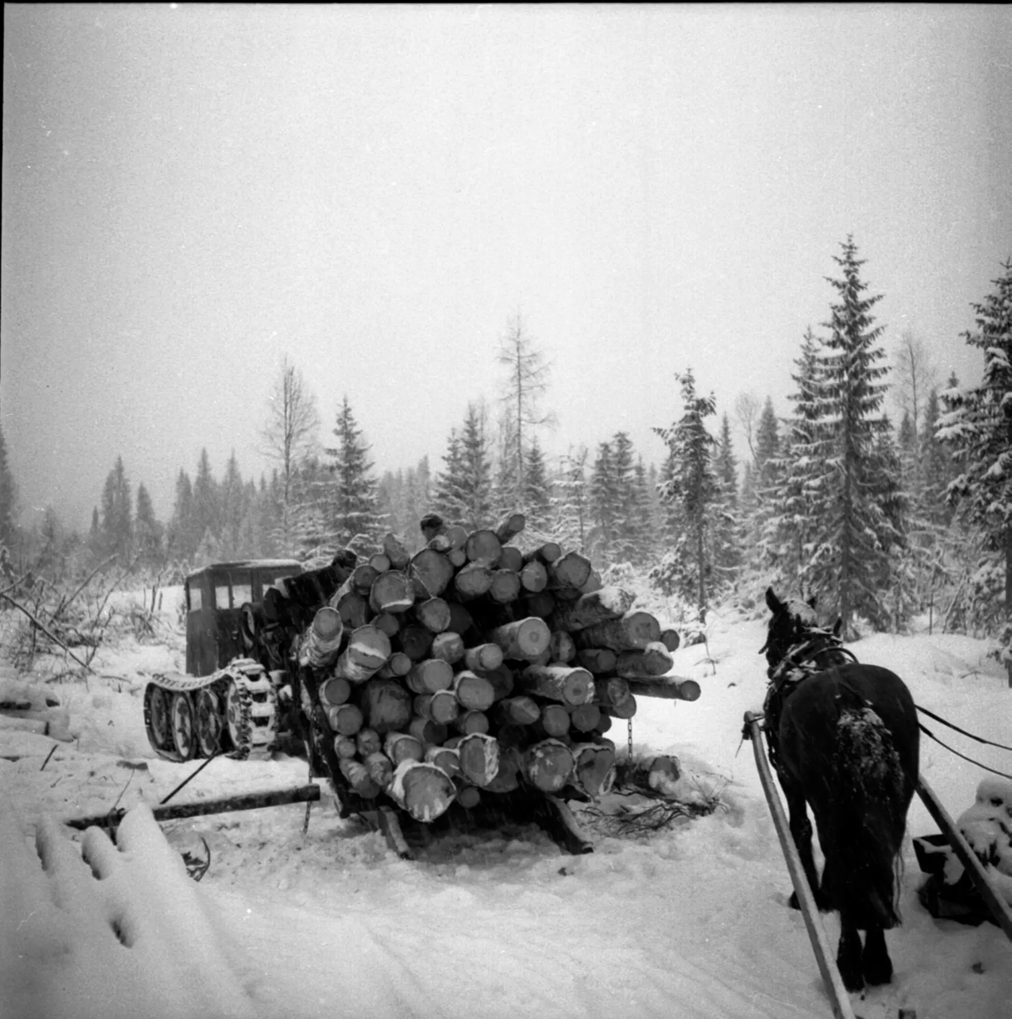
<svg viewBox="0 0 1012 1019"><path fill-rule="evenodd" d="M362 799L432 821L521 784L594 798L614 773L606 734L636 694L698 697L666 675L674 630L583 555L521 553L509 541L523 523L468 533L427 518L413 555L388 534L302 634L303 708Z"/></svg>

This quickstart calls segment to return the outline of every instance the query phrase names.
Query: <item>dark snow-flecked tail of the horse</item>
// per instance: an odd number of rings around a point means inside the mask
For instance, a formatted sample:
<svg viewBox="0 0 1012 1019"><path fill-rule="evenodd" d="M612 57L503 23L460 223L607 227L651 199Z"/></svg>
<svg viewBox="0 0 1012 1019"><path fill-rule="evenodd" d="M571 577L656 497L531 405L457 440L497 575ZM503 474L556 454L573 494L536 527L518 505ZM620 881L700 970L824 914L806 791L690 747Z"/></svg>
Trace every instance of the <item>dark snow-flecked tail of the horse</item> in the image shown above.
<svg viewBox="0 0 1012 1019"><path fill-rule="evenodd" d="M845 708L837 735L833 844L841 865L827 867L827 892L855 926L893 927L901 922L903 766L892 735L870 707Z"/></svg>

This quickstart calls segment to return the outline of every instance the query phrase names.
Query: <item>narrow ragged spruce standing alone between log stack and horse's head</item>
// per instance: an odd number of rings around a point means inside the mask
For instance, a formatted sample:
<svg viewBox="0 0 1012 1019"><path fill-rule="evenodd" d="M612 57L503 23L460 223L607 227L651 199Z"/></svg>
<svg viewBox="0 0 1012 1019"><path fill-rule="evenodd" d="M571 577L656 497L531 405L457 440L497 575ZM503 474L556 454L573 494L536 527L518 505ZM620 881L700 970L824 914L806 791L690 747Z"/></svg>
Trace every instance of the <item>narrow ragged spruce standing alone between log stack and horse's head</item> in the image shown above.
<svg viewBox="0 0 1012 1019"><path fill-rule="evenodd" d="M671 545L651 570L651 579L663 593L694 604L705 622L713 573L711 509L720 496L714 472L717 441L705 420L716 413L717 404L713 393L696 395L691 368L675 378L681 384L682 417L668 428L654 429L668 447L658 492Z"/></svg>

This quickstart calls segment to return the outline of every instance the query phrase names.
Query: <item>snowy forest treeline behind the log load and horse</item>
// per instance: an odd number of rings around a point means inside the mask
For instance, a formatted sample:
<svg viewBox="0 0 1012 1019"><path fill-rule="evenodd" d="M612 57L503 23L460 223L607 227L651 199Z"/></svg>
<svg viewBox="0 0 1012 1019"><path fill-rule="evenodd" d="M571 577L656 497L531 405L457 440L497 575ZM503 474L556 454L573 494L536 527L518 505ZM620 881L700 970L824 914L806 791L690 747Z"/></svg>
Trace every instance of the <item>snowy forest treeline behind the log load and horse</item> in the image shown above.
<svg viewBox="0 0 1012 1019"><path fill-rule="evenodd" d="M874 314L881 294L867 292L852 238L834 261L828 318L799 339L789 407L778 413L770 397L742 393L718 414L687 368L676 376L677 414L655 429L666 449L657 465L624 431L546 455L551 366L519 318L497 353L498 399L467 405L435 465L425 457L378 470L347 396L322 437L316 397L286 359L261 435L270 473L243 477L233 452L216 476L202 450L192 475L179 470L172 514L160 521L117 458L79 534L52 508L18 526L0 432L6 579L72 578L115 562L168 583L215 560L368 553L388 530L419 547L427 513L473 529L521 511L526 540L552 538L601 570L641 573L683 615L729 596L750 605L772 584L818 597L851 636L931 612L937 627L1008 646L1012 261L961 337L982 355L969 384L941 384L909 332L890 365ZM731 441L732 419L744 449Z"/></svg>

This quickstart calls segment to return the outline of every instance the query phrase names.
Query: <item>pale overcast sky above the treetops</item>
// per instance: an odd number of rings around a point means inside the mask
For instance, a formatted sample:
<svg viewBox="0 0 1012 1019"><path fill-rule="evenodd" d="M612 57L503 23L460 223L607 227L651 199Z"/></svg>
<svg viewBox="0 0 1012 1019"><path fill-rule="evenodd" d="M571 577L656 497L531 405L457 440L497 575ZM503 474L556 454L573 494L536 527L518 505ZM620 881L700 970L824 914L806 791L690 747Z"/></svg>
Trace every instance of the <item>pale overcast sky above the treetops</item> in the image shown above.
<svg viewBox="0 0 1012 1019"><path fill-rule="evenodd" d="M87 527L122 455L171 512L206 446L268 468L287 355L326 433L439 468L517 312L550 451L786 415L853 233L891 351L1012 255L1012 8L4 7L0 413L26 511ZM714 422L716 430L718 422ZM743 448L739 445L739 455Z"/></svg>

